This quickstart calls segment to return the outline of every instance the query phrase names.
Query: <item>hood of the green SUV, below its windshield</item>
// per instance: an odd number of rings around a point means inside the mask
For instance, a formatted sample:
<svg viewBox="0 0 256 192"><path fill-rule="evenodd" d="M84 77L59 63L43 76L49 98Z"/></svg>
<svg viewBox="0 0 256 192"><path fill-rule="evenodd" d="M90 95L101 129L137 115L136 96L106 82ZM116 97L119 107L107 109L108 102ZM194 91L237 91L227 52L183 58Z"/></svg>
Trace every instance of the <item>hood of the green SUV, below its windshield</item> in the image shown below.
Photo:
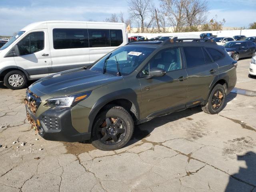
<svg viewBox="0 0 256 192"><path fill-rule="evenodd" d="M42 78L34 82L29 89L56 97L94 90L122 78L78 68Z"/></svg>

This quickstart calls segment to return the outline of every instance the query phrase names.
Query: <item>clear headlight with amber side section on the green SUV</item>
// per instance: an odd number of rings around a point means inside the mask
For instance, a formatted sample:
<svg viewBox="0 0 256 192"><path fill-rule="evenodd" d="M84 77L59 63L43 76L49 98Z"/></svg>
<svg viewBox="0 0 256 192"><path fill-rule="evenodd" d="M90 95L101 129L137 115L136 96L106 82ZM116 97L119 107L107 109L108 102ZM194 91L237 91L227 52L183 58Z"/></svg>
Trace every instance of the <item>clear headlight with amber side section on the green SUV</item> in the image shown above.
<svg viewBox="0 0 256 192"><path fill-rule="evenodd" d="M77 104L78 102L80 102L81 100L88 98L90 94L91 94L91 91L88 91L88 92L74 94L74 95L50 98L46 100L45 106L55 107L55 108L71 107Z"/></svg>

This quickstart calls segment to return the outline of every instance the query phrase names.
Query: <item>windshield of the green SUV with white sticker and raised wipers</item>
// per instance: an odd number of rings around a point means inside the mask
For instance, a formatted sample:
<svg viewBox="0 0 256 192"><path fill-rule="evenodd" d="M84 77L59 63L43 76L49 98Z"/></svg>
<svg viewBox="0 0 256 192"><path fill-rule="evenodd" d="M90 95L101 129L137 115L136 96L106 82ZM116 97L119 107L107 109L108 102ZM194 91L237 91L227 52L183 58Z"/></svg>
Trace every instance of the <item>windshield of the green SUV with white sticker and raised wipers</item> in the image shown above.
<svg viewBox="0 0 256 192"><path fill-rule="evenodd" d="M155 49L156 48L152 47L123 46L104 56L91 66L90 70L114 76L116 76L118 72L120 72L120 75L128 75Z"/></svg>

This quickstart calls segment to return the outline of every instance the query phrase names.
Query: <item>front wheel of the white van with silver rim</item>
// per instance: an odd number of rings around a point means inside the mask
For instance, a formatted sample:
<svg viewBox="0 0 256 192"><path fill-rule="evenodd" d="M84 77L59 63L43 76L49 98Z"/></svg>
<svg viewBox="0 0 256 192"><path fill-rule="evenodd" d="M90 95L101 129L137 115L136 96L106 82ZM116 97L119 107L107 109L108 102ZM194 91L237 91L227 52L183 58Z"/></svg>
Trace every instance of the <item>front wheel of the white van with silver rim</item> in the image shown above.
<svg viewBox="0 0 256 192"><path fill-rule="evenodd" d="M5 86L12 90L25 88L27 81L26 75L19 70L10 71L4 76Z"/></svg>

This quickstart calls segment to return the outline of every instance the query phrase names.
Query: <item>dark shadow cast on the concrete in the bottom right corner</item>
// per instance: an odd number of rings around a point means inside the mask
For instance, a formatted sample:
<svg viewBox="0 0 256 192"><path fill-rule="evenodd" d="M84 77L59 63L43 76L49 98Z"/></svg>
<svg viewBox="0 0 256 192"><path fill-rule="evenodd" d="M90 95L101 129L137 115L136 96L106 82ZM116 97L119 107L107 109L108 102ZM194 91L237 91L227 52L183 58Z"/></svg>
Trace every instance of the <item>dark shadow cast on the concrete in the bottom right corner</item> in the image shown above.
<svg viewBox="0 0 256 192"><path fill-rule="evenodd" d="M252 191L256 186L256 154L250 151L242 156L237 155L237 160L245 161L247 168L240 167L238 173L230 176L225 192Z"/></svg>

